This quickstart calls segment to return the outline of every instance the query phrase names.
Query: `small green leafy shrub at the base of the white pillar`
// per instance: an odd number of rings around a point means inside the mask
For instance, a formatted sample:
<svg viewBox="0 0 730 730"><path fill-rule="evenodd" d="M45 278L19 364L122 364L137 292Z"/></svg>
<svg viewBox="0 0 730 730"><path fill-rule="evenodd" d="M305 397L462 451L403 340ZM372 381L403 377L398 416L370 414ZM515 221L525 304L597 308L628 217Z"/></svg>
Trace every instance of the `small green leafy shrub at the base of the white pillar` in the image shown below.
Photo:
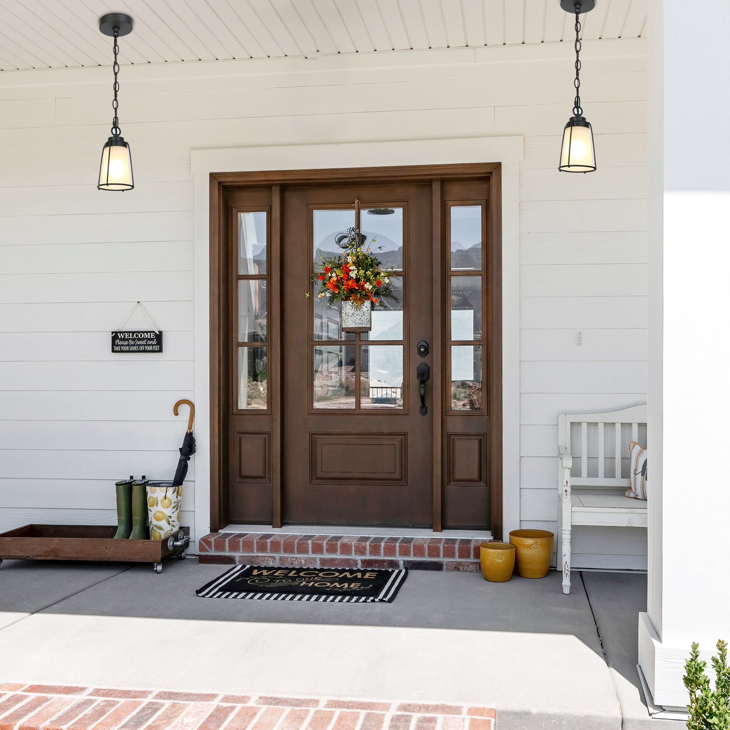
<svg viewBox="0 0 730 730"><path fill-rule="evenodd" d="M727 656L727 643L718 641L718 656L712 657L712 668L715 669L713 690L704 672L707 662L699 659L699 644L692 645L683 677L689 691L689 730L730 730L730 667Z"/></svg>

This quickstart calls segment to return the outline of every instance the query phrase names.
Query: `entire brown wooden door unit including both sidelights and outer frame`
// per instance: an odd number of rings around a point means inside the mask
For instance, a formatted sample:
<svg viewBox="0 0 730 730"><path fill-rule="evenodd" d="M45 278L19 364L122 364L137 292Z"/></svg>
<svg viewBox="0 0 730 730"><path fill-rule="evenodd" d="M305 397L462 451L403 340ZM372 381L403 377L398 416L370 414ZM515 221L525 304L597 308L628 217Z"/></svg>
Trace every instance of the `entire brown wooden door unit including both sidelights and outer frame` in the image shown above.
<svg viewBox="0 0 730 730"><path fill-rule="evenodd" d="M410 525L499 537L498 171L226 174L212 195L213 528ZM374 307L368 332L343 332L339 307L312 283L351 226L393 267L397 300Z"/></svg>

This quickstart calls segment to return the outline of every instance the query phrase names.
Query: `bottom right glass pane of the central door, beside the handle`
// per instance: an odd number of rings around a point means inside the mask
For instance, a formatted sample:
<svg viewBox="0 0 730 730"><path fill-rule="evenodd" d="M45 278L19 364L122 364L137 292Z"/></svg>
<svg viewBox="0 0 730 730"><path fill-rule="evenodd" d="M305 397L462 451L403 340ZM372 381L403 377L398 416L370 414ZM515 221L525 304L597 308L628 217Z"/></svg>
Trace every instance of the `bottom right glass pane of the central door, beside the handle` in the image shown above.
<svg viewBox="0 0 730 730"><path fill-rule="evenodd" d="M361 408L403 407L403 345L364 345Z"/></svg>

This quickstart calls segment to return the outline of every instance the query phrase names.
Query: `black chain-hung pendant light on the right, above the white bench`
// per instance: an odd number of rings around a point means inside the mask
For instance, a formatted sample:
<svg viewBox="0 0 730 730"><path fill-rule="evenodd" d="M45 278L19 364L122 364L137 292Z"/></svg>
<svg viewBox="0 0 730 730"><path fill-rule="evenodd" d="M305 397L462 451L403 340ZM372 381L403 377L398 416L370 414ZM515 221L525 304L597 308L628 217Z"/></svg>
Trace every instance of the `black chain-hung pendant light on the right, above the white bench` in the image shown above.
<svg viewBox="0 0 730 730"><path fill-rule="evenodd" d="M596 148L593 147L593 128L585 120L580 107L580 14L596 7L595 0L561 0L560 7L575 13L575 101L573 116L563 131L560 150L560 172L593 172L596 169Z"/></svg>

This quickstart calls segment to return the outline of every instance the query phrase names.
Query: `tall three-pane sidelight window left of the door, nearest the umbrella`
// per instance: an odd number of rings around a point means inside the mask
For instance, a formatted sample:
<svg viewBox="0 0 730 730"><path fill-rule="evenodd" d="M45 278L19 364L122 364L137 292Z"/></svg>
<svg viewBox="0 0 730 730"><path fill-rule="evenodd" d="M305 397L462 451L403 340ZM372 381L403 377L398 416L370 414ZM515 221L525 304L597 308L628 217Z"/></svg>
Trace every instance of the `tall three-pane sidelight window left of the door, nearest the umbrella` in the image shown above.
<svg viewBox="0 0 730 730"><path fill-rule="evenodd" d="M268 215L239 212L237 246L237 388L239 410L269 407L266 334Z"/></svg>

